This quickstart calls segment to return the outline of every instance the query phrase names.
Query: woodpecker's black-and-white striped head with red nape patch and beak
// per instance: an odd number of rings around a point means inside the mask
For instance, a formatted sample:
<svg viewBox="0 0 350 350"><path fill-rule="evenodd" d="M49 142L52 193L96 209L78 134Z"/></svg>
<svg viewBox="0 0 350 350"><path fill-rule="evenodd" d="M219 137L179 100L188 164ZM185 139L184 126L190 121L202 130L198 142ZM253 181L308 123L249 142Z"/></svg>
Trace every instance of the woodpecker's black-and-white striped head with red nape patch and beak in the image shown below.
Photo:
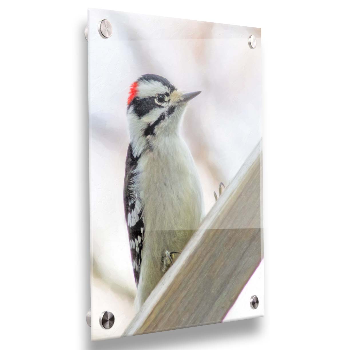
<svg viewBox="0 0 350 350"><path fill-rule="evenodd" d="M177 135L186 104L200 93L183 93L155 74L144 74L132 83L127 117L134 155Z"/></svg>

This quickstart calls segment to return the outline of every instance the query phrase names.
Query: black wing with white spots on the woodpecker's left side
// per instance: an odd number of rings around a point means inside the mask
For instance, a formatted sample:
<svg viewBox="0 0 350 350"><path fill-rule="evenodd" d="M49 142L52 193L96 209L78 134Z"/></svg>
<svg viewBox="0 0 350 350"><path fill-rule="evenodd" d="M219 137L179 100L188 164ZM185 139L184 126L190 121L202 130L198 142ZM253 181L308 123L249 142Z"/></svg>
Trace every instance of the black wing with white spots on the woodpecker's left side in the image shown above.
<svg viewBox="0 0 350 350"><path fill-rule="evenodd" d="M132 187L137 162L138 158L134 157L132 147L129 145L125 161L124 211L129 233L131 261L134 269L136 286L139 283L141 250L145 235L140 194L137 193L137 191L135 191Z"/></svg>

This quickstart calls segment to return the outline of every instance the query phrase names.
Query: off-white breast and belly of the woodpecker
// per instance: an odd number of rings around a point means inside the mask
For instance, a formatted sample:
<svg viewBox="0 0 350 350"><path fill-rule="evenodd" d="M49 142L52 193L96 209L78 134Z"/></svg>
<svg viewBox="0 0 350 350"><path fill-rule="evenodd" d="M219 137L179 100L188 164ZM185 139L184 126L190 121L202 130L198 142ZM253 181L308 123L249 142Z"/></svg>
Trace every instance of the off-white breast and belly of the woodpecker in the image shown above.
<svg viewBox="0 0 350 350"><path fill-rule="evenodd" d="M193 157L178 135L159 140L139 160L134 186L142 192L145 237L137 308L162 277L165 251L182 251L203 217L203 194Z"/></svg>

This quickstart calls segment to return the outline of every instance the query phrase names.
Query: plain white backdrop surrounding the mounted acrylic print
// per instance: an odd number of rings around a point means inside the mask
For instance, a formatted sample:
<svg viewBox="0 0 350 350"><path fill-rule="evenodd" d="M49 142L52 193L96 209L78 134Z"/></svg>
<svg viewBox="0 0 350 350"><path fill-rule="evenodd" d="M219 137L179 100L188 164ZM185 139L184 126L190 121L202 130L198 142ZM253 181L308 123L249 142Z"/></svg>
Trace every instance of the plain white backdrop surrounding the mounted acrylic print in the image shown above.
<svg viewBox="0 0 350 350"><path fill-rule="evenodd" d="M346 2L2 5L1 345L349 346ZM262 27L265 317L90 343L87 7Z"/></svg>

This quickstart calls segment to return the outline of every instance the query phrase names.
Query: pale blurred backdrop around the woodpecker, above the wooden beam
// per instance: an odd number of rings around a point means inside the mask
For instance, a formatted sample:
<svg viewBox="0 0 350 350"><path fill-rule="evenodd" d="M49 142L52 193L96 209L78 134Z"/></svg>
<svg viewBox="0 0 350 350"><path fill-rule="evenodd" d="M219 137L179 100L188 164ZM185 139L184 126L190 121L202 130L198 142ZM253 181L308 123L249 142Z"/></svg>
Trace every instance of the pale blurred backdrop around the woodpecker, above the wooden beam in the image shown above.
<svg viewBox="0 0 350 350"><path fill-rule="evenodd" d="M113 35L96 30L108 19ZM261 32L258 28L89 10L91 310L112 311L93 339L120 336L134 316L136 293L123 205L128 88L140 75L166 77L191 101L181 133L194 157L205 212L219 182L227 185L258 144L261 118ZM258 45L248 47L254 35ZM97 322L96 322L97 320Z"/></svg>

